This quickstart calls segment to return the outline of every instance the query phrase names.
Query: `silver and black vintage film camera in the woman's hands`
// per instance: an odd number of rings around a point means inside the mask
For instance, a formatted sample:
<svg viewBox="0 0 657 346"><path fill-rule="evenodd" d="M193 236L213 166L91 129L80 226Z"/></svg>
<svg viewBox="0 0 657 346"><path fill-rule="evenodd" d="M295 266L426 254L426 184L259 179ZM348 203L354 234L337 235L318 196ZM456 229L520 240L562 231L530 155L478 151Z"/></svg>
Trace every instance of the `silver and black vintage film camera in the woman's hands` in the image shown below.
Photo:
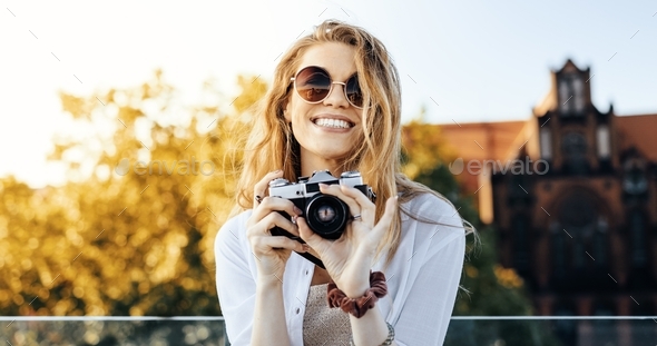
<svg viewBox="0 0 657 346"><path fill-rule="evenodd" d="M345 171L337 179L329 170L320 170L314 171L310 178L298 178L296 184L284 178L272 180L269 182L269 196L292 200L302 210L301 216L305 218L308 227L325 239L340 238L351 215L349 206L340 198L322 194L320 184L345 185L360 190L372 201L376 198L372 188L363 184L363 178L359 171ZM278 212L286 218L291 218L287 212ZM271 233L273 236L286 236L302 244L304 243L300 237L280 227L274 227Z"/></svg>

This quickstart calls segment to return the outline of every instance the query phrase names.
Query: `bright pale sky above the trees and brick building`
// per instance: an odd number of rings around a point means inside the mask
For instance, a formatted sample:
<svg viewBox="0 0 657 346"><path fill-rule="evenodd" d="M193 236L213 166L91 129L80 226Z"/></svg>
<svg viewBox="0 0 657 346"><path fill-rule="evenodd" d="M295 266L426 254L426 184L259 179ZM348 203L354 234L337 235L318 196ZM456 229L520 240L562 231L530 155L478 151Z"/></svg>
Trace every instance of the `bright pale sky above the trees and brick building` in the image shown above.
<svg viewBox="0 0 657 346"><path fill-rule="evenodd" d="M227 98L239 73L271 80L278 56L325 19L380 38L402 79L404 120L531 117L550 70L591 69L594 105L657 112L654 1L1 1L0 176L61 184L46 164L70 121L59 91L90 96L143 83L155 69L198 101Z"/></svg>

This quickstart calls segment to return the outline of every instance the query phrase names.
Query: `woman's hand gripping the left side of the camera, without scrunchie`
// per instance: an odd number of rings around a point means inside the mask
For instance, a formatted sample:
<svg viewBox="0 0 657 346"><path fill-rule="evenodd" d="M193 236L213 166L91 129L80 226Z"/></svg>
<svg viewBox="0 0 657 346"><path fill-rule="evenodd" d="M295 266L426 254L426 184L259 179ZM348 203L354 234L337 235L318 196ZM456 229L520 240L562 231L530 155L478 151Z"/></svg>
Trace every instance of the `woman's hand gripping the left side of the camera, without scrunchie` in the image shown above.
<svg viewBox="0 0 657 346"><path fill-rule="evenodd" d="M256 258L258 279L283 280L285 264L292 251L305 253L308 247L285 236L272 236L269 229L281 227L294 236L298 236L298 228L290 219L277 211L285 211L296 217L301 210L294 204L284 198L264 197L258 202L255 196L265 196L269 181L283 177L282 170L268 172L254 187L253 214L246 221L246 236L251 245L251 251Z"/></svg>

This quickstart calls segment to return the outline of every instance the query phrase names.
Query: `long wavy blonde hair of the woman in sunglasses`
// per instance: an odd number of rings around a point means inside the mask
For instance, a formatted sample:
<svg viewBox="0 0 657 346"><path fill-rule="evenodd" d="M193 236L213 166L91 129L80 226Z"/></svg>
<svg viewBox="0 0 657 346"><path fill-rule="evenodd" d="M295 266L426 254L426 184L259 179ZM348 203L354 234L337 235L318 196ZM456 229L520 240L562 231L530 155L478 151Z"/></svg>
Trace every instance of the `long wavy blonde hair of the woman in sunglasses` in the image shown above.
<svg viewBox="0 0 657 346"><path fill-rule="evenodd" d="M271 89L255 105L252 131L248 136L242 174L237 182L237 205L233 214L253 207L253 187L267 172L283 169L283 177L296 181L301 175L300 145L294 139L292 128L284 118L283 110L292 88L291 77L300 68L298 63L308 48L324 42L341 42L355 48L355 65L359 83L363 90L361 144L346 157L342 171L359 170L365 184L376 192L376 220L385 209L385 201L399 195L400 205L421 194L432 194L451 202L428 187L411 181L401 172L401 87L399 72L383 43L360 27L336 20L326 20L313 33L298 39L281 58ZM400 208L410 217L419 219ZM394 223L382 239L377 255L390 246L386 263L394 256L401 239L401 218L395 212ZM472 226L468 224L468 229Z"/></svg>

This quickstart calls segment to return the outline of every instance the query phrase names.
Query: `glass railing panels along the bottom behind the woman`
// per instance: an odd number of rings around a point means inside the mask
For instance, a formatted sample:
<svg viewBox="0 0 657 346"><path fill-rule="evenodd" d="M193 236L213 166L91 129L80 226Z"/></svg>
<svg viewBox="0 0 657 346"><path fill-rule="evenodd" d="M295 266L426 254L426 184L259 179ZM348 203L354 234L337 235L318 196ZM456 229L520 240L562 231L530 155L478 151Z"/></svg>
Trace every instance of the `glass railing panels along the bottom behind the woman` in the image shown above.
<svg viewBox="0 0 657 346"><path fill-rule="evenodd" d="M229 343L223 317L0 317L0 346L22 345L227 346ZM452 317L444 345L657 345L657 316Z"/></svg>

